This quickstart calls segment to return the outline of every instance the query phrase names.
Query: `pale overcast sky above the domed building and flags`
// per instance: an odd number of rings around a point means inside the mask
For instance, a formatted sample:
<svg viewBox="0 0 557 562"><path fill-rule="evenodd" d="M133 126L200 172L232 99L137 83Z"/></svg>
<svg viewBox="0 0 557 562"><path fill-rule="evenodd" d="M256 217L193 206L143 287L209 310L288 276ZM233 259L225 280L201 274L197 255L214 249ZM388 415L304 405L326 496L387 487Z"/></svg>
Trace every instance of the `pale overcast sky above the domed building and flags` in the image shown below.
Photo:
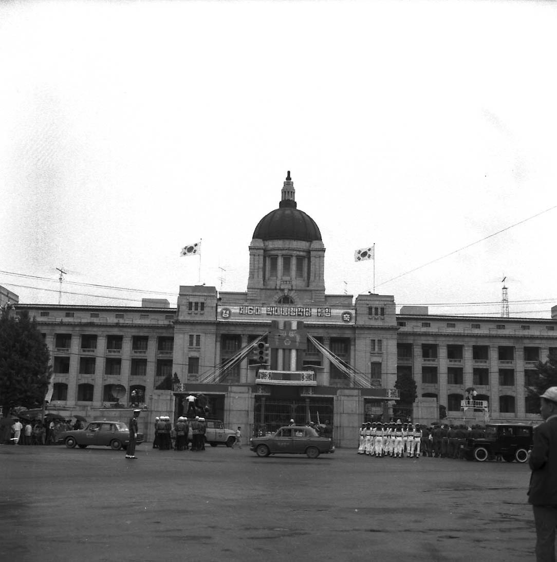
<svg viewBox="0 0 557 562"><path fill-rule="evenodd" d="M373 289L375 243L398 306L497 315L506 276L511 316L549 318L555 29L550 2L4 2L0 285L244 291L291 170L327 292Z"/></svg>

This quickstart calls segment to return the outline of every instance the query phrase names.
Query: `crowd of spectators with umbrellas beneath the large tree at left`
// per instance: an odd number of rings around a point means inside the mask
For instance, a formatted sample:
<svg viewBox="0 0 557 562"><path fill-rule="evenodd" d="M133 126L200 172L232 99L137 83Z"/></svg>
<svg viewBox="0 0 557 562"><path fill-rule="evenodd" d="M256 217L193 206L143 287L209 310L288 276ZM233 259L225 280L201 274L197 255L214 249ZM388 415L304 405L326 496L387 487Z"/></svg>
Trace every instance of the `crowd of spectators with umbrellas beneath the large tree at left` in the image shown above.
<svg viewBox="0 0 557 562"><path fill-rule="evenodd" d="M55 445L58 433L70 429L83 429L83 422L76 420L29 420L16 418L12 425L0 428L2 445Z"/></svg>

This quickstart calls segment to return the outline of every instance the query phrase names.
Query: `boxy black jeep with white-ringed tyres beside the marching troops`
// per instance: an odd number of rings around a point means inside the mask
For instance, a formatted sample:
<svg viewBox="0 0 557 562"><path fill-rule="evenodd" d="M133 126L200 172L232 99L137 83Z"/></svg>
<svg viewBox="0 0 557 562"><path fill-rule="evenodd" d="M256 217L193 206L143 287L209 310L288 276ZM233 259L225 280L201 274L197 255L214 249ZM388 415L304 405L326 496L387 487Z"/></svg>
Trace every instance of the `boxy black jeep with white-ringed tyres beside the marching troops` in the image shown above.
<svg viewBox="0 0 557 562"><path fill-rule="evenodd" d="M469 437L463 445L464 458L483 463L502 458L508 463L526 463L532 448L533 428L526 424L489 423L483 437Z"/></svg>

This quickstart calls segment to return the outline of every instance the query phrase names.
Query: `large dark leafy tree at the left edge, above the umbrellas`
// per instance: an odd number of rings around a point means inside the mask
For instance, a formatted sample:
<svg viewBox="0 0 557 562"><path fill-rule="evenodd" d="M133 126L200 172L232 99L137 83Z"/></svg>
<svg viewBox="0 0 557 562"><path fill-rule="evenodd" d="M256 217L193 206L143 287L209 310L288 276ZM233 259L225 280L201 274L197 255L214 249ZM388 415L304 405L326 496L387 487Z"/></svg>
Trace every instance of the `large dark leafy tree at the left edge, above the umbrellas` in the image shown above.
<svg viewBox="0 0 557 562"><path fill-rule="evenodd" d="M15 406L43 405L51 379L50 353L27 311L0 312L0 404L4 416Z"/></svg>

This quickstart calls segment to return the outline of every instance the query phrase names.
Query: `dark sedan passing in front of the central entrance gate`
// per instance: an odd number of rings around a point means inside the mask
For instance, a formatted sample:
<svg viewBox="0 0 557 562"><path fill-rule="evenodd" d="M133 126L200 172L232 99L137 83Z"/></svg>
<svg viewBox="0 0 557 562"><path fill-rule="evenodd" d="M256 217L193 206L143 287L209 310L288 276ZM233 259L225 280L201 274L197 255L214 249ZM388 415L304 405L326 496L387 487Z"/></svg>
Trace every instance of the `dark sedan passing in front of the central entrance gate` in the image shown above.
<svg viewBox="0 0 557 562"><path fill-rule="evenodd" d="M334 452L333 439L320 437L315 429L306 425L289 425L269 437L252 437L250 451L257 456L274 454L307 455L316 459L321 453Z"/></svg>

